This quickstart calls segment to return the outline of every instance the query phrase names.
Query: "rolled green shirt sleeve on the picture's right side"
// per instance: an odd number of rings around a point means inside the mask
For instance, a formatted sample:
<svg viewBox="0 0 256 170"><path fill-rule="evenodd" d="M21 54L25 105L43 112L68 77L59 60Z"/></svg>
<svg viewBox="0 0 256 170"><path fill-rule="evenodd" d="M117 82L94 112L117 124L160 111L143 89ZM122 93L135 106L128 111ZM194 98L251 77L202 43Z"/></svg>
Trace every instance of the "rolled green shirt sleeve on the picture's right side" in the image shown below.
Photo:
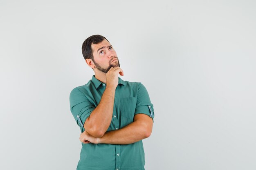
<svg viewBox="0 0 256 170"><path fill-rule="evenodd" d="M146 90L145 86L141 83L138 84L138 93L137 93L137 103L135 109L135 115L143 113L148 115L153 119L154 122L154 107L150 101L148 91Z"/></svg>

